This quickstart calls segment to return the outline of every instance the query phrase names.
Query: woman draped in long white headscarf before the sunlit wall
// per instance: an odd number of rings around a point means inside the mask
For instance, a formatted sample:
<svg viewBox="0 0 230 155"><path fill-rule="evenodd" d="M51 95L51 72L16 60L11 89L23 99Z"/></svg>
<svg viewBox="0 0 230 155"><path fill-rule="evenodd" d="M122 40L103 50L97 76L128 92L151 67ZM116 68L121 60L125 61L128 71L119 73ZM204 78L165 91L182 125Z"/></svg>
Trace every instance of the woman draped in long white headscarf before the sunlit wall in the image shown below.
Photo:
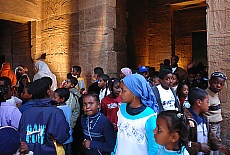
<svg viewBox="0 0 230 155"><path fill-rule="evenodd" d="M48 65L41 60L35 63L35 69L37 73L34 75L33 81L41 79L42 77L50 77L52 79L51 89L54 91L57 89L57 79L56 76L50 71Z"/></svg>

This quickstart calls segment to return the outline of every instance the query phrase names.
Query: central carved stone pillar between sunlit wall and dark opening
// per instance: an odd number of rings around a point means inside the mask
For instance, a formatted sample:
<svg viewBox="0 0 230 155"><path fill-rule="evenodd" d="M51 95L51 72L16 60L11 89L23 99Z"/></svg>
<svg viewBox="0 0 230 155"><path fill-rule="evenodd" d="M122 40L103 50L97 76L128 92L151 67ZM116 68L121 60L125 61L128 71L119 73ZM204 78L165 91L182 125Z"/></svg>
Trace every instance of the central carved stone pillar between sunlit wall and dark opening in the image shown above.
<svg viewBox="0 0 230 155"><path fill-rule="evenodd" d="M115 28L116 0L79 0L79 65L88 84L94 67L110 76L117 70Z"/></svg>

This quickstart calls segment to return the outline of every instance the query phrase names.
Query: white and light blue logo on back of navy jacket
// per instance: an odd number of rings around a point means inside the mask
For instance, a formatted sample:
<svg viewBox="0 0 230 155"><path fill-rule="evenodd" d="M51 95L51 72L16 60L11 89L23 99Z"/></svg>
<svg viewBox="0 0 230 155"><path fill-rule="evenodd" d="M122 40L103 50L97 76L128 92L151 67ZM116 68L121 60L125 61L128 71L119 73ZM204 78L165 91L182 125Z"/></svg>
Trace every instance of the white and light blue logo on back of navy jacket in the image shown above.
<svg viewBox="0 0 230 155"><path fill-rule="evenodd" d="M42 145L45 138L45 129L45 125L28 124L26 127L26 143L39 143Z"/></svg>

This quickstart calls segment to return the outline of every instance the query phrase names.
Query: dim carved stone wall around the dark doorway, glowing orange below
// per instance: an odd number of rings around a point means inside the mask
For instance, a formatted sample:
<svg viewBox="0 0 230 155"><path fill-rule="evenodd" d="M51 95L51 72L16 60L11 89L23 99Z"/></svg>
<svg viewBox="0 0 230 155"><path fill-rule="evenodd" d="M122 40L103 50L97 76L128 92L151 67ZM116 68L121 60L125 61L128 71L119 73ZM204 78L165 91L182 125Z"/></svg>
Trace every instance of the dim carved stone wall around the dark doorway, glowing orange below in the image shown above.
<svg viewBox="0 0 230 155"><path fill-rule="evenodd" d="M174 11L173 19L175 54L180 57L179 66L187 69L187 65L192 62L192 32L206 31L206 7Z"/></svg>

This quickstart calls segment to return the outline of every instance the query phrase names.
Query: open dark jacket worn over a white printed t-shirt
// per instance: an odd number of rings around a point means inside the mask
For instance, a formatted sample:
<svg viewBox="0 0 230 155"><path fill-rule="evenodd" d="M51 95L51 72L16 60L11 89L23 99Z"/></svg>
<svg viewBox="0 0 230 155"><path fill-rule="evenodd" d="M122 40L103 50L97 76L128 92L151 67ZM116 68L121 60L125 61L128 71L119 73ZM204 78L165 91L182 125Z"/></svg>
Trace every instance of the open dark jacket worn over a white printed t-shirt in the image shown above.
<svg viewBox="0 0 230 155"><path fill-rule="evenodd" d="M156 86L152 87L152 90L153 90L153 93L156 97L156 100L157 100L157 103L158 103L158 106L159 106L159 110L158 110L158 113L164 111L163 109L163 106L162 106L162 102L161 102L161 97L160 97L160 93L159 93L159 90ZM180 108L180 102L178 101L177 97L176 97L176 93L175 91L173 90L173 88L170 87L170 90L172 91L173 93L173 96L175 97L175 107L178 108L178 110L180 111L181 108Z"/></svg>

